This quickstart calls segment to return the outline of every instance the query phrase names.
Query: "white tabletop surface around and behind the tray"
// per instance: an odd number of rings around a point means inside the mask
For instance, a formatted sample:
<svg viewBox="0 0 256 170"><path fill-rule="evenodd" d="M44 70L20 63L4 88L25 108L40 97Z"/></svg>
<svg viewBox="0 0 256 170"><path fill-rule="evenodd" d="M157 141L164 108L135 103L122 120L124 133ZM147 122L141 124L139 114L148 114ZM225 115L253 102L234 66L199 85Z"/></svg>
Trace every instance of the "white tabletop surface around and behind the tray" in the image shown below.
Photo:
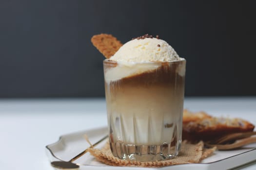
<svg viewBox="0 0 256 170"><path fill-rule="evenodd" d="M256 124L256 97L185 98L184 108L214 116L243 118ZM0 170L53 170L45 146L60 135L107 126L105 100L0 100ZM238 169L256 170L256 163Z"/></svg>

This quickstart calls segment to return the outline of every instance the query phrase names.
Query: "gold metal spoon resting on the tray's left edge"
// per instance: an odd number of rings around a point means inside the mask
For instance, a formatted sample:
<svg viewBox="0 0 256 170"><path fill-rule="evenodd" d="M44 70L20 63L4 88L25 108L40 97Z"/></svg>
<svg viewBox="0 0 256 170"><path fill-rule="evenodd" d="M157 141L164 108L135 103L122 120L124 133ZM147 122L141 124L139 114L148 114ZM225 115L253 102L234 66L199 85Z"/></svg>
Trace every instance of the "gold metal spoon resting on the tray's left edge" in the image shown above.
<svg viewBox="0 0 256 170"><path fill-rule="evenodd" d="M98 145L100 142L105 140L107 137L108 137L108 135L102 137L100 140L98 140L95 144L93 144L89 148L92 148L92 147ZM79 165L75 164L75 163L72 163L72 162L77 160L79 157L81 157L82 155L84 155L87 152L88 152L88 148L86 148L83 152L79 153L78 155L76 155L75 157L73 157L72 159L70 159L67 162L66 161L53 161L53 162L51 162L51 165L54 168L58 168L58 169L78 169Z"/></svg>

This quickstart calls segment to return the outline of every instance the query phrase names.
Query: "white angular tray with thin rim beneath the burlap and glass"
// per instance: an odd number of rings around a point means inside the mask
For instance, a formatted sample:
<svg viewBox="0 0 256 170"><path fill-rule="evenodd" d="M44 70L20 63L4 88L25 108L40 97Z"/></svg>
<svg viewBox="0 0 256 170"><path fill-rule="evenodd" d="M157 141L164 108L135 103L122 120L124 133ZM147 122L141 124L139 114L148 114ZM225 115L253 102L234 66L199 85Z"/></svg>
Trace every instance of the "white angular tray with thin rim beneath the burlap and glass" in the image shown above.
<svg viewBox="0 0 256 170"><path fill-rule="evenodd" d="M90 145L86 142L84 134L89 137L91 143L97 142L100 138L107 135L107 128L102 127L82 132L76 132L59 137L59 141L46 146L46 153L50 161L63 160L68 161L78 153L85 150ZM107 140L107 139L106 139ZM98 144L96 148L100 148L105 141ZM235 168L256 160L256 143L244 146L232 151L216 151L214 155L204 159L199 164L183 164L162 168L140 168L143 170L226 170ZM74 163L80 165L80 170L134 170L134 167L112 167L98 162L90 153L86 153Z"/></svg>

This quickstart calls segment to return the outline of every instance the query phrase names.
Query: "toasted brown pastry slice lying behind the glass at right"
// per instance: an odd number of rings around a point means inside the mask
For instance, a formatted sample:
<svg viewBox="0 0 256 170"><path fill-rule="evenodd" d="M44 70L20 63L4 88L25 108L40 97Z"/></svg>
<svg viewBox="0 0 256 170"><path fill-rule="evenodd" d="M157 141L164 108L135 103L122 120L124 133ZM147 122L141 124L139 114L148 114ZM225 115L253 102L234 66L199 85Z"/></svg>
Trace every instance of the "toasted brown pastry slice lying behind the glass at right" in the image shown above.
<svg viewBox="0 0 256 170"><path fill-rule="evenodd" d="M254 125L244 119L217 118L205 112L184 110L182 138L190 141L210 141L238 132L250 132Z"/></svg>

